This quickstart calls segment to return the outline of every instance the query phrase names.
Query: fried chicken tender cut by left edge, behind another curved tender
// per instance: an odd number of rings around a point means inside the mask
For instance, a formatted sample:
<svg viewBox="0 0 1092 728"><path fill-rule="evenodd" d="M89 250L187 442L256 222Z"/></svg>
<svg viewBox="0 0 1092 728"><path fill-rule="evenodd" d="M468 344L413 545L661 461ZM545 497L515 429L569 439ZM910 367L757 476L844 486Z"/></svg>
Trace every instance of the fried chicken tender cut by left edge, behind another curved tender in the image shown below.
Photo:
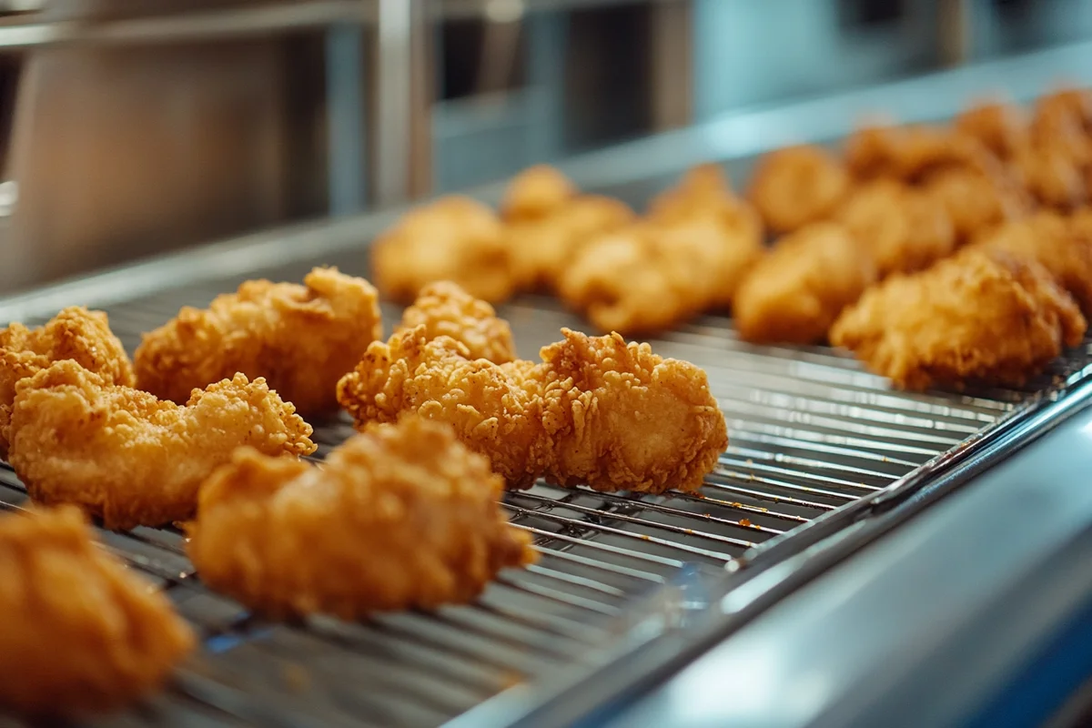
<svg viewBox="0 0 1092 728"><path fill-rule="evenodd" d="M38 329L20 323L0 329L0 457L8 455L15 384L63 359L102 374L112 384L133 384L129 356L102 311L73 306Z"/></svg>

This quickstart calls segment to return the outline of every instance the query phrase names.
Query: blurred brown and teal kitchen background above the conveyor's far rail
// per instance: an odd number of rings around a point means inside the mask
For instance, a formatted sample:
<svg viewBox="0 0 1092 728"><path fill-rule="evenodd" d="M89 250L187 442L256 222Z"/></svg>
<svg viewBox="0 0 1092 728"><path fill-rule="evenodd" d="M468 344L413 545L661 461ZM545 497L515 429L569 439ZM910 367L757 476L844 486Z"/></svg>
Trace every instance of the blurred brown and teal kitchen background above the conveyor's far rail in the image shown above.
<svg viewBox="0 0 1092 728"><path fill-rule="evenodd" d="M1092 36L1081 0L0 4L0 294Z"/></svg>

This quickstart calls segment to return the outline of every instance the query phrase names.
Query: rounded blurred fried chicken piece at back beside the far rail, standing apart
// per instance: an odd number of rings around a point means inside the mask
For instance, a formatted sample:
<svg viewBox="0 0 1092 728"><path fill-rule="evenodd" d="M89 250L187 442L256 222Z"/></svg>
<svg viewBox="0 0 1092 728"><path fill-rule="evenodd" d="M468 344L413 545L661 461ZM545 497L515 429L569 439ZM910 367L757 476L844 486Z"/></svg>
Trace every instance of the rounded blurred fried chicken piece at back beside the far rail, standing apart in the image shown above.
<svg viewBox="0 0 1092 728"><path fill-rule="evenodd" d="M850 191L842 162L818 146L791 146L762 157L748 199L774 232L827 218Z"/></svg>

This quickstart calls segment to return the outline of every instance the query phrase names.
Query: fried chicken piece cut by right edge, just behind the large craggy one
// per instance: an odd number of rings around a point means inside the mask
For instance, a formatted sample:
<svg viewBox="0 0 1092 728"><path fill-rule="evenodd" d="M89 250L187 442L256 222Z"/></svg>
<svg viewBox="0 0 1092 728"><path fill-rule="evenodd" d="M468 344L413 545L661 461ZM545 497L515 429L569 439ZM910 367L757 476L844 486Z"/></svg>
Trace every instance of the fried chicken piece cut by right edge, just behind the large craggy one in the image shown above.
<svg viewBox="0 0 1092 728"><path fill-rule="evenodd" d="M983 235L975 248L1033 260L1092 313L1092 237L1061 215L1042 211Z"/></svg>

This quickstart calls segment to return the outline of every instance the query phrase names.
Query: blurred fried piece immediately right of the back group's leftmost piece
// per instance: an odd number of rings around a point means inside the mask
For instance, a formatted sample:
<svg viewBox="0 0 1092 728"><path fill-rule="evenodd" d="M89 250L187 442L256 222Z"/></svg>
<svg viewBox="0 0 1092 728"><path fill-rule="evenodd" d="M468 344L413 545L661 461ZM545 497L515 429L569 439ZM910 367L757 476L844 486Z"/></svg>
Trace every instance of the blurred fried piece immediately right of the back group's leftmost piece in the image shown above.
<svg viewBox="0 0 1092 728"><path fill-rule="evenodd" d="M585 194L550 215L508 227L512 266L520 287L556 290L573 255L595 238L621 229L634 218L612 198Z"/></svg>

